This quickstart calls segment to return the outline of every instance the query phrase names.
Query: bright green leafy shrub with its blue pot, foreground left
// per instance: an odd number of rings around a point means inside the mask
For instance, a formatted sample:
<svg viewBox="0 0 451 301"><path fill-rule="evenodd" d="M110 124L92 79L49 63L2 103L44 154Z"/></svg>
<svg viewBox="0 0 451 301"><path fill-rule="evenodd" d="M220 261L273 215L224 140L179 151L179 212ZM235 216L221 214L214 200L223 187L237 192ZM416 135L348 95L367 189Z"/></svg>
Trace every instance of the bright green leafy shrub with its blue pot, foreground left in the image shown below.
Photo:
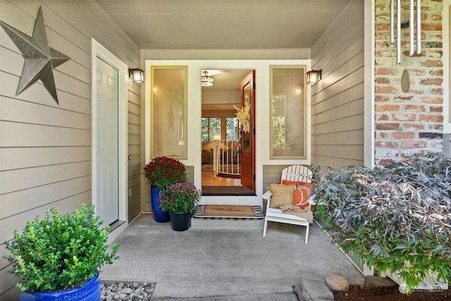
<svg viewBox="0 0 451 301"><path fill-rule="evenodd" d="M99 270L118 259L119 247L109 252L109 226L100 229L101 223L94 206L88 212L82 204L73 214L49 209L44 219L28 221L22 233L14 231L13 240L5 242L11 254L4 257L23 291L20 300L83 300L85 295L100 300Z"/></svg>

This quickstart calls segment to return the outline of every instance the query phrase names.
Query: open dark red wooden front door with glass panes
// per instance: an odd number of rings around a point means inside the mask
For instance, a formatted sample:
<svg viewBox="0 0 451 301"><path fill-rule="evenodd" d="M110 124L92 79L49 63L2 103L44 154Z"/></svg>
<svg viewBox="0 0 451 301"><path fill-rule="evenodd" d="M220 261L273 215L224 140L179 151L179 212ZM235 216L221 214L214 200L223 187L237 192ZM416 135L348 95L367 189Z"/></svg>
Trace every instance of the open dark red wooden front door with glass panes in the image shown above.
<svg viewBox="0 0 451 301"><path fill-rule="evenodd" d="M241 82L241 107L250 106L249 128L241 127L241 185L255 192L255 71Z"/></svg>

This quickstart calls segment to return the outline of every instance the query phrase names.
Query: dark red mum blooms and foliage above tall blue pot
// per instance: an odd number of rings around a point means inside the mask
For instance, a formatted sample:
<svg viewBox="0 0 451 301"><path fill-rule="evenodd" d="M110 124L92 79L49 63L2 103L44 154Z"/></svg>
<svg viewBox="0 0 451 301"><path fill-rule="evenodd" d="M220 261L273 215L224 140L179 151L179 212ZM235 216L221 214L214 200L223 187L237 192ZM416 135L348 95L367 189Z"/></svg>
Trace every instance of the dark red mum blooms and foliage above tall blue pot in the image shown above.
<svg viewBox="0 0 451 301"><path fill-rule="evenodd" d="M157 156L144 166L144 176L151 186L163 190L171 184L186 181L185 164L167 156Z"/></svg>

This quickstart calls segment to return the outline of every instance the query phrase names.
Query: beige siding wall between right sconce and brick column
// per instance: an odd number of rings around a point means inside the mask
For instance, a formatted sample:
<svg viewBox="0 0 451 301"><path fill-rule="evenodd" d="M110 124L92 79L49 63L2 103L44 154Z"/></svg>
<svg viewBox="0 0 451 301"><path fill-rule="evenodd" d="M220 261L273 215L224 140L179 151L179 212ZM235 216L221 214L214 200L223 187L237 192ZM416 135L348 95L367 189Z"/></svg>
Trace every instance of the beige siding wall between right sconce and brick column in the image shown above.
<svg viewBox="0 0 451 301"><path fill-rule="evenodd" d="M364 164L364 1L352 1L311 49L311 162Z"/></svg>

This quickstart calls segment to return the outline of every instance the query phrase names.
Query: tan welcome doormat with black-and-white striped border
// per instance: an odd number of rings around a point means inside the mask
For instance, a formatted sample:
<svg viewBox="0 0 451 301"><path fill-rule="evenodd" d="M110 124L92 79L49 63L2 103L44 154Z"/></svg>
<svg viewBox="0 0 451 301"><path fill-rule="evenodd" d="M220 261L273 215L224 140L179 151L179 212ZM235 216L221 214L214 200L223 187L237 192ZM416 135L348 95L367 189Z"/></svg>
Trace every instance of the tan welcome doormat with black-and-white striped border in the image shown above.
<svg viewBox="0 0 451 301"><path fill-rule="evenodd" d="M199 205L194 217L201 219L262 219L259 206Z"/></svg>

